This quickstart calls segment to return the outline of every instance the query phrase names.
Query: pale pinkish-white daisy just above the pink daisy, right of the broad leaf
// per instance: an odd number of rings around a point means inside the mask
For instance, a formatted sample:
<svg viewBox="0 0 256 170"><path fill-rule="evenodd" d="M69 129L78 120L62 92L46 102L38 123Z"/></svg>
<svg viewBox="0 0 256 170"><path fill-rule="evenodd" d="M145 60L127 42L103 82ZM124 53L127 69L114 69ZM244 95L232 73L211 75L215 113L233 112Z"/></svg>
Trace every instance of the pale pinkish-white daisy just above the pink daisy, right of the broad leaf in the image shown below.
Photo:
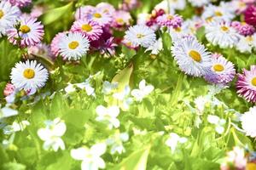
<svg viewBox="0 0 256 170"><path fill-rule="evenodd" d="M112 22L112 16L102 8L95 8L85 15L86 20L96 21L100 26L110 25Z"/></svg>

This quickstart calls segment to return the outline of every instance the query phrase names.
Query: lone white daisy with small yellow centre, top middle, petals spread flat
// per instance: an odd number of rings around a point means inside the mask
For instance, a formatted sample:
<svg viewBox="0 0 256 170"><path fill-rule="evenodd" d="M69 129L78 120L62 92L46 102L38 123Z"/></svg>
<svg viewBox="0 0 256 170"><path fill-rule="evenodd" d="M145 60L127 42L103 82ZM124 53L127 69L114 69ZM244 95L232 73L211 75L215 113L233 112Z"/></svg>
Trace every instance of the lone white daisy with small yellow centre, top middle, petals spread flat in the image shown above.
<svg viewBox="0 0 256 170"><path fill-rule="evenodd" d="M148 48L156 41L154 31L148 26L131 26L125 31L125 39L131 42L131 46L143 46Z"/></svg>

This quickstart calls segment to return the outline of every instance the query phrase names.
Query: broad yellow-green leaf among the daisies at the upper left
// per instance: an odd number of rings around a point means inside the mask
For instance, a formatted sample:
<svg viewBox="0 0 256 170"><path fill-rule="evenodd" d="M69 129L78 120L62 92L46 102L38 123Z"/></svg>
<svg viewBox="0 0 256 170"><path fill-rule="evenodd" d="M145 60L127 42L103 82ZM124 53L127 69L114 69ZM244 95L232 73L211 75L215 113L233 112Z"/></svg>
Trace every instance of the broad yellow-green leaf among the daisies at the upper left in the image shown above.
<svg viewBox="0 0 256 170"><path fill-rule="evenodd" d="M44 25L49 25L55 22L55 20L61 20L63 15L70 13L72 9L73 2L68 3L67 5L60 8L50 9L40 17L40 20L42 20Z"/></svg>

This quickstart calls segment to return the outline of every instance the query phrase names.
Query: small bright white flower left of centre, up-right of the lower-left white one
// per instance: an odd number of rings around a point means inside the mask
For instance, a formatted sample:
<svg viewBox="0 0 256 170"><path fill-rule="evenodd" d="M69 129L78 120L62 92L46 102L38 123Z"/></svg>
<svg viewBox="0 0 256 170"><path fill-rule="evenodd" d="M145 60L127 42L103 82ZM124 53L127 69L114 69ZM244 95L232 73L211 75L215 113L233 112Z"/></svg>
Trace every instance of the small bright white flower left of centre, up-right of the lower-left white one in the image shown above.
<svg viewBox="0 0 256 170"><path fill-rule="evenodd" d="M108 123L108 127L112 129L113 127L117 128L120 125L119 120L116 118L119 116L119 107L110 106L108 108L103 105L98 105L96 107L96 121Z"/></svg>

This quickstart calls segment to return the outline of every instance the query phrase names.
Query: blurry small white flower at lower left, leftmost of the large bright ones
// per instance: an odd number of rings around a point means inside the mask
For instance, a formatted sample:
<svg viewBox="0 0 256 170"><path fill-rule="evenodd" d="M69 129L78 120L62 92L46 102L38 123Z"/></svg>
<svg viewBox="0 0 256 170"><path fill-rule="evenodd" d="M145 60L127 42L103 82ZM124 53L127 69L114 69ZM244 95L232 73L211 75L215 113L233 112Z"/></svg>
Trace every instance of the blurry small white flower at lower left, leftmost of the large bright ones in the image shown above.
<svg viewBox="0 0 256 170"><path fill-rule="evenodd" d="M62 122L59 117L55 118L54 121L46 121L46 127L38 130L38 136L44 140L44 150L52 148L54 151L65 150L65 144L61 139L61 136L66 132L66 124Z"/></svg>

